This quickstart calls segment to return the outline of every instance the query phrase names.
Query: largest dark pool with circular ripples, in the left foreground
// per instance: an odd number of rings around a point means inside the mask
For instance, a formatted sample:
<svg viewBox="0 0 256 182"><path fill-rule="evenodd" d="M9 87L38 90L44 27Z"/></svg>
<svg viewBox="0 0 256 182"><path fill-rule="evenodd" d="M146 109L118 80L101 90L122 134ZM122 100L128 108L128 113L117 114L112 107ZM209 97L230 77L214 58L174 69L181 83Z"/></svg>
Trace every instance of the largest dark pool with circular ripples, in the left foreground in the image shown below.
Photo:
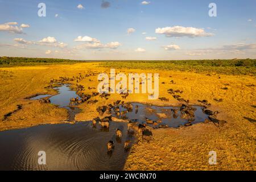
<svg viewBox="0 0 256 182"><path fill-rule="evenodd" d="M121 143L115 129L122 129ZM128 152L123 148L126 123L110 123L109 132L94 129L91 122L76 125L44 125L0 133L0 169L16 170L121 170ZM114 140L110 156L106 143ZM46 166L38 165L38 152L46 151Z"/></svg>

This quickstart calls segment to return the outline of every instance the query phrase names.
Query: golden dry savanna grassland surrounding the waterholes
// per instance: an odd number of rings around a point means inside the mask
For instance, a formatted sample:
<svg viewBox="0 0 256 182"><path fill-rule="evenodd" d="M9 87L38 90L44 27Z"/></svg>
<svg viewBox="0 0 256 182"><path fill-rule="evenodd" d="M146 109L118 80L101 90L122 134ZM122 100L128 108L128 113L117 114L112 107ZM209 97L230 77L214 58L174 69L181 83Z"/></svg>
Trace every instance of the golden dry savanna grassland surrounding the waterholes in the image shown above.
<svg viewBox="0 0 256 182"><path fill-rule="evenodd" d="M4 59L4 61L3 61ZM15 58L18 60L18 58ZM23 59L21 59L23 60ZM34 61L31 61L34 60ZM125 102L155 105L180 105L167 92L182 90L181 97L190 104L208 100L210 110L220 111L218 119L227 123L199 123L179 129L152 130L154 139L133 145L126 170L255 170L255 60L188 60L188 61L94 61L35 59L13 61L1 57L0 68L0 131L30 127L45 123L63 123L67 110L53 104L27 100L34 94L57 94L48 88L52 79L93 73L77 81L69 81L71 88L83 85L83 93L92 94L97 88L98 73L159 73L159 97L169 101L147 100L148 94L129 94ZM222 98L222 102L218 100ZM123 100L111 94L109 100L96 96L96 104L83 103L76 121L90 121L97 117L98 106ZM209 165L209 151L217 152L217 164Z"/></svg>

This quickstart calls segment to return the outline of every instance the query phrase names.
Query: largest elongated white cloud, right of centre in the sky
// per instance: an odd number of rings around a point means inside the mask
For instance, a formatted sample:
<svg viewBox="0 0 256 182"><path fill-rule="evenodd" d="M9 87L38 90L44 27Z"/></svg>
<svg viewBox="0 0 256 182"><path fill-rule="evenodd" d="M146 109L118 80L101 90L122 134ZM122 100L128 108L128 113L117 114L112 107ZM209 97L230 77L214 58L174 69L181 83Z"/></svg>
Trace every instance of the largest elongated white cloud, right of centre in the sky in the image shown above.
<svg viewBox="0 0 256 182"><path fill-rule="evenodd" d="M156 34L164 34L167 37L183 37L187 36L189 38L203 37L203 36L213 36L212 33L207 33L203 28L194 28L194 27L164 27L156 28Z"/></svg>

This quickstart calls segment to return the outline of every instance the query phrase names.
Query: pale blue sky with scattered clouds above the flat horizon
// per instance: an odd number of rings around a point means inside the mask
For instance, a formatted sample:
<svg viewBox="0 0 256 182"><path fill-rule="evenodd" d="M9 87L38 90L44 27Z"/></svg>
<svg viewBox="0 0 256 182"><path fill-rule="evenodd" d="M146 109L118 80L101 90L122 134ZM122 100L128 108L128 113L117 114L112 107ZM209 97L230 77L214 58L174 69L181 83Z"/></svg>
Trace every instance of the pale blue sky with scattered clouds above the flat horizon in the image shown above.
<svg viewBox="0 0 256 182"><path fill-rule="evenodd" d="M0 56L255 59L256 0L0 0Z"/></svg>

